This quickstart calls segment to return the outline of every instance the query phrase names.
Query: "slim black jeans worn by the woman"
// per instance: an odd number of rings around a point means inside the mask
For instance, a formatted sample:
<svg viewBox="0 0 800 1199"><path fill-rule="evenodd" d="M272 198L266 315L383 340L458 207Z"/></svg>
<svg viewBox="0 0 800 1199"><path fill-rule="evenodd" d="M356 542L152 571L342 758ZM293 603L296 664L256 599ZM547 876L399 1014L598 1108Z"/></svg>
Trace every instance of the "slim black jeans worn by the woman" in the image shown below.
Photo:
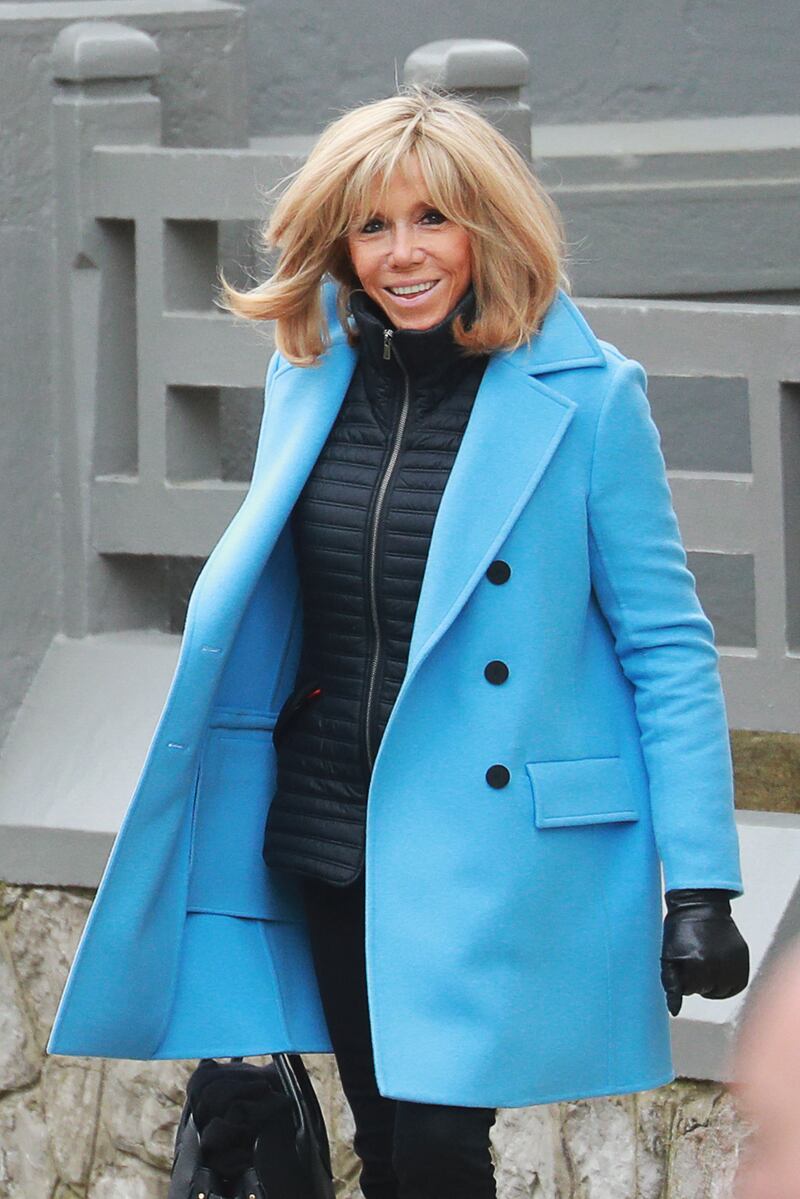
<svg viewBox="0 0 800 1199"><path fill-rule="evenodd" d="M363 872L331 886L303 879L314 970L365 1199L495 1199L489 1128L495 1108L392 1099L378 1091L365 965Z"/></svg>

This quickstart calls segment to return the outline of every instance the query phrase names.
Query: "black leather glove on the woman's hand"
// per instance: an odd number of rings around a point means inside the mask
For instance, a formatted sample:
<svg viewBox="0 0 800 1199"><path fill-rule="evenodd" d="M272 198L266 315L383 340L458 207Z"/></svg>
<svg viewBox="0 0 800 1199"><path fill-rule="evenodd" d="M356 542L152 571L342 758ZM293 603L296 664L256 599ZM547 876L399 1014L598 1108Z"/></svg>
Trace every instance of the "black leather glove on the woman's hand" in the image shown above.
<svg viewBox="0 0 800 1199"><path fill-rule="evenodd" d="M730 916L735 891L667 891L661 947L661 983L678 1016L684 995L728 999L747 986L750 951Z"/></svg>

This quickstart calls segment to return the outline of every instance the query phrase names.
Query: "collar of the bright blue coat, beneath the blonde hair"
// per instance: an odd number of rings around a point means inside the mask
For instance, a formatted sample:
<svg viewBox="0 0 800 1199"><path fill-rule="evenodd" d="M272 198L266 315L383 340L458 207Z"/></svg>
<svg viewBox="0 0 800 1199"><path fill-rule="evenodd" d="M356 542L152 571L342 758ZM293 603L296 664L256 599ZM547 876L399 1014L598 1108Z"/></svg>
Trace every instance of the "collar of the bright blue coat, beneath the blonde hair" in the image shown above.
<svg viewBox="0 0 800 1199"><path fill-rule="evenodd" d="M333 279L329 278L323 283L323 303L333 344L345 341L344 330L336 313L336 288ZM467 300L467 296L463 300ZM528 375L542 375L576 367L599 367L606 361L600 342L563 288L558 289L539 331L530 341L516 350L503 350L498 356L506 359L510 366Z"/></svg>

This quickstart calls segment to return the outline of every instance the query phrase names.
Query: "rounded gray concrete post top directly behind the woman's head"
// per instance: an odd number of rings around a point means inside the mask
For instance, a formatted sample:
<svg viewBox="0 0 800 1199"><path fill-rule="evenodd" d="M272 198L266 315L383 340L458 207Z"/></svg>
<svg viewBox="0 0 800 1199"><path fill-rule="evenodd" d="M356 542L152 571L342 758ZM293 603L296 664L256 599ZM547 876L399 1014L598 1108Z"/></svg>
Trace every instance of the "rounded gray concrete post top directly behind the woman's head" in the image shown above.
<svg viewBox="0 0 800 1199"><path fill-rule="evenodd" d="M428 83L464 95L529 162L530 107L522 98L528 84L528 55L511 42L453 37L427 42L405 60L405 83Z"/></svg>

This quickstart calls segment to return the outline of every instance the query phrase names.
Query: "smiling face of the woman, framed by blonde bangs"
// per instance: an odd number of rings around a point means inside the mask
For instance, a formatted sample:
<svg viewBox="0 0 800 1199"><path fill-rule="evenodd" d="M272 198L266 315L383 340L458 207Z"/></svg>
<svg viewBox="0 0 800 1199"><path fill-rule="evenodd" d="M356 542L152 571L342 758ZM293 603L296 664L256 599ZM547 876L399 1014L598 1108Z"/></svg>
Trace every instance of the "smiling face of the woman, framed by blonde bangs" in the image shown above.
<svg viewBox="0 0 800 1199"><path fill-rule="evenodd" d="M431 203L419 164L396 171L369 219L347 246L367 295L396 329L432 329L467 291L471 278L469 233Z"/></svg>

